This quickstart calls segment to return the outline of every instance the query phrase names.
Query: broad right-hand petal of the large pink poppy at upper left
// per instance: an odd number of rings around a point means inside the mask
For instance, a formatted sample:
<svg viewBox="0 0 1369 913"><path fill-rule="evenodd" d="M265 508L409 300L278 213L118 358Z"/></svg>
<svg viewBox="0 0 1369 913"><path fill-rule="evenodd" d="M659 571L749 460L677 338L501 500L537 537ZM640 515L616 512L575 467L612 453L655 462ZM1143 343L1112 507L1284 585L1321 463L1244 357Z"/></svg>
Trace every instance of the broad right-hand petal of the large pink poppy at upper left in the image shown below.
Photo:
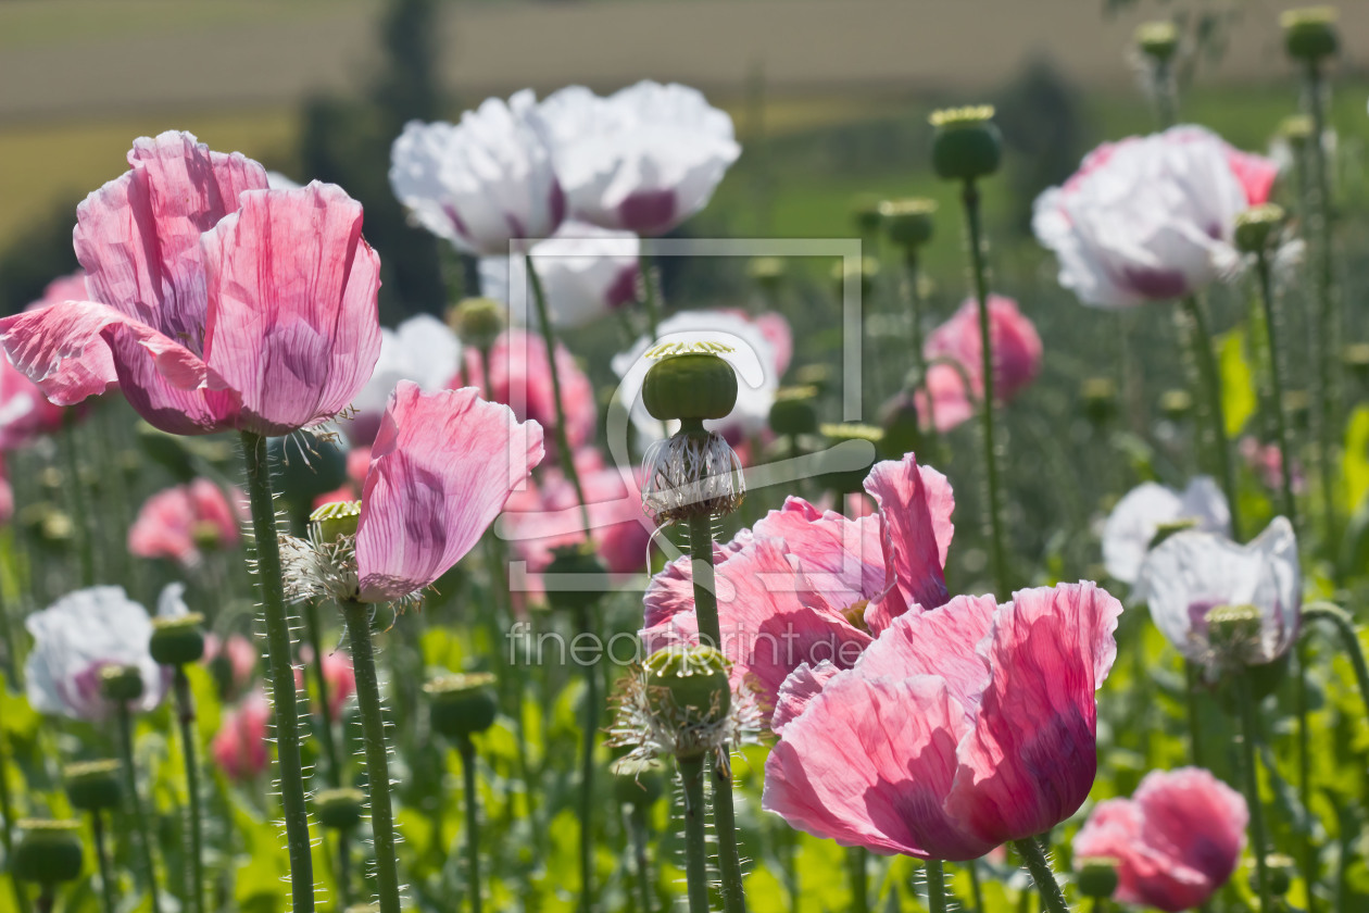
<svg viewBox="0 0 1369 913"><path fill-rule="evenodd" d="M205 361L242 397L242 427L285 434L348 407L381 356L381 259L361 204L331 183L251 190L201 238Z"/></svg>

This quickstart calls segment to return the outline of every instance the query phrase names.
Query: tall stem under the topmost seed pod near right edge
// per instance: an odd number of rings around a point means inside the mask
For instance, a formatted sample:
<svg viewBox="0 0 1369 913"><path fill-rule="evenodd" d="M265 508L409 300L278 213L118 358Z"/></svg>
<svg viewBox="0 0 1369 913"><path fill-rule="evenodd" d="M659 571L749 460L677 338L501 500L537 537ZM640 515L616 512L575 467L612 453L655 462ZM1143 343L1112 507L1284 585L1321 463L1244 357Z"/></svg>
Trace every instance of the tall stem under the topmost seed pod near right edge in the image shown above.
<svg viewBox="0 0 1369 913"><path fill-rule="evenodd" d="M1307 209L1309 234L1314 244L1316 270L1313 289L1317 297L1317 470L1321 487L1321 512L1325 545L1336 554L1339 522L1336 517L1336 290L1335 261L1331 233L1331 172L1327 163L1327 108L1322 97L1325 82L1321 64L1307 63L1307 107L1312 115L1312 138L1307 142L1307 163L1312 166L1312 204Z"/></svg>

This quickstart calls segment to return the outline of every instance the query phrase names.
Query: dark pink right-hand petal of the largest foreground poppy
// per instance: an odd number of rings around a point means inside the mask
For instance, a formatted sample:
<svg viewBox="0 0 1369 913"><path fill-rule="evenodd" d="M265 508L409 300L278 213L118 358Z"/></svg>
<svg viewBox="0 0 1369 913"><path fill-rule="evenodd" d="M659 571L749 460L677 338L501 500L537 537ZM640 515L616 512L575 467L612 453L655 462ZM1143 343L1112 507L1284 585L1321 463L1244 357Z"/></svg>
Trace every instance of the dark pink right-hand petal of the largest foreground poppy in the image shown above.
<svg viewBox="0 0 1369 913"><path fill-rule="evenodd" d="M1108 678L1121 604L1094 583L1021 590L980 643L990 682L960 745L946 810L990 843L1075 813L1098 765L1094 691Z"/></svg>

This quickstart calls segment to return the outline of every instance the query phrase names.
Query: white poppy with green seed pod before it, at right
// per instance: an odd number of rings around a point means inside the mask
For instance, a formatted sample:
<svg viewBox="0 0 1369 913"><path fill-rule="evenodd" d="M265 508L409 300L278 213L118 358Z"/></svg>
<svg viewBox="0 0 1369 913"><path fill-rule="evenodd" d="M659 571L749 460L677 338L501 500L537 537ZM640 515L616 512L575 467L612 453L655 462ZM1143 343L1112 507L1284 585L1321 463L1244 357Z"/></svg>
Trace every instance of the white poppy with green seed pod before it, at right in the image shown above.
<svg viewBox="0 0 1369 913"><path fill-rule="evenodd" d="M1180 653L1209 667L1231 658L1231 647L1213 643L1207 613L1250 606L1258 612L1258 634L1239 645L1233 658L1244 665L1272 663L1296 641L1302 612L1292 524L1275 517L1249 545L1213 532L1176 532L1146 558L1136 595L1150 604L1155 627Z"/></svg>

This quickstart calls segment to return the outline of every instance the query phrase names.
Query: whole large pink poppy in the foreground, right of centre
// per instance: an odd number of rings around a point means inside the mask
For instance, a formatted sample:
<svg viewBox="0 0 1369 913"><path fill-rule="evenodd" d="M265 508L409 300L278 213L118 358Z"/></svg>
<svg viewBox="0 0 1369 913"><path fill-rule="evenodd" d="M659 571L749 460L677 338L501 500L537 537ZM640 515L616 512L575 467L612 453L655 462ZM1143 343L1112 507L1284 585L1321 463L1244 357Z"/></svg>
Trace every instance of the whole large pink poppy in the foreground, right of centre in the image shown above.
<svg viewBox="0 0 1369 913"><path fill-rule="evenodd" d="M1092 583L1003 605L956 597L894 619L850 669L798 669L761 808L845 846L935 860L1060 824L1094 782L1094 691L1120 615Z"/></svg>

